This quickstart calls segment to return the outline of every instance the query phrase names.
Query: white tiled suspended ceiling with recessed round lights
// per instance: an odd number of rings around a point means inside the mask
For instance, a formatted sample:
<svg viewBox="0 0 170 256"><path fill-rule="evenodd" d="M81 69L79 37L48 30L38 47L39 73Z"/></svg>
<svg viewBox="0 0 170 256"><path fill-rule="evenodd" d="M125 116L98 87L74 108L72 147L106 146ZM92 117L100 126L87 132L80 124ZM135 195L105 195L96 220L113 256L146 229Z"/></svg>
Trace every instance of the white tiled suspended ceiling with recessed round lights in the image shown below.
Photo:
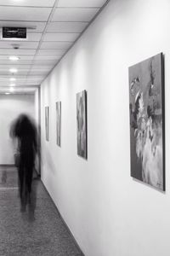
<svg viewBox="0 0 170 256"><path fill-rule="evenodd" d="M0 89L32 88L71 48L106 0L0 0L0 34L3 26L27 27L26 41L0 38ZM14 49L14 46L19 49ZM19 61L9 61L9 56ZM17 73L10 73L16 68ZM11 78L16 79L10 81ZM11 85L12 84L12 85ZM29 89L30 90L30 89Z"/></svg>

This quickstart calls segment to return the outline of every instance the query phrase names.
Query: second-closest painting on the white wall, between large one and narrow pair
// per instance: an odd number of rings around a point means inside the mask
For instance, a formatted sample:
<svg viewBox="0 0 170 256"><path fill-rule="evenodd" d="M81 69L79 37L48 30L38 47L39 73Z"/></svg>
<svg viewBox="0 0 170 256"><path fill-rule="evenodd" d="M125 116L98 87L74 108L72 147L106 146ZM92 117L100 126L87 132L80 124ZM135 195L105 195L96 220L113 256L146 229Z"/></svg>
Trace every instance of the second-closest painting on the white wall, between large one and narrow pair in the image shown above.
<svg viewBox="0 0 170 256"><path fill-rule="evenodd" d="M77 93L77 154L88 158L87 153L87 92Z"/></svg>

